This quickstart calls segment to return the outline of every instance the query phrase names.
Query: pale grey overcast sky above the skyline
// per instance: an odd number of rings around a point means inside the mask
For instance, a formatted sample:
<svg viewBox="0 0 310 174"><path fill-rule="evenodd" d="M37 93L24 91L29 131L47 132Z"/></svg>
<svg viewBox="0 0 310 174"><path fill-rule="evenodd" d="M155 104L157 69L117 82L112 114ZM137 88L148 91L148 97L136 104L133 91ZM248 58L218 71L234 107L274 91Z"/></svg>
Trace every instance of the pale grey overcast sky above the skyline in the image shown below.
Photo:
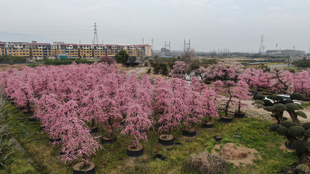
<svg viewBox="0 0 310 174"><path fill-rule="evenodd" d="M97 23L105 44L258 52L264 34L265 50L310 49L310 0L1 0L0 16L2 42L18 41L10 32L91 44Z"/></svg>

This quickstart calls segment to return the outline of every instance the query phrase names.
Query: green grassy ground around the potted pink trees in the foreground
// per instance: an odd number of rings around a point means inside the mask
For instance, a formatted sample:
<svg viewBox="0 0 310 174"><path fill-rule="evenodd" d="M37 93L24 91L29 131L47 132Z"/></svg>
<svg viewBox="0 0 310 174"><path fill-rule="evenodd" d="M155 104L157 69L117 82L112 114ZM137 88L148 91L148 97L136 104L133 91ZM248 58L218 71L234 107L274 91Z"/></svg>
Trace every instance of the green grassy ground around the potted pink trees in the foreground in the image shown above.
<svg viewBox="0 0 310 174"><path fill-rule="evenodd" d="M40 123L29 122L27 116L17 111L15 106L10 106L11 121L14 138L26 150L26 154L15 149L15 153L8 159L6 167L0 169L0 174L72 174L73 164L64 164L59 161L60 145L48 143L48 132L40 132ZM284 153L279 147L285 139L270 132L271 122L260 118L246 117L234 118L233 123L225 124L214 120L215 129L203 130L196 126L195 139L186 139L182 131L173 131L175 142L182 145L161 146L157 143L160 133L158 128L148 130L148 141L142 142L144 155L137 159L126 156L126 146L132 140L130 136L117 136L117 142L112 145L103 145L91 158L95 163L96 173L101 174L197 174L186 167L190 154L209 151L217 144L237 143L249 148L255 148L262 156L262 160L255 160L254 165L240 165L234 167L230 164L229 174L277 174L280 170L297 158L292 153ZM119 133L120 131L118 131ZM99 128L99 135L104 134ZM220 134L221 142L216 142L212 137ZM234 135L239 135L236 138ZM161 154L167 160L153 159L156 154ZM29 159L33 163L29 162ZM31 165L29 165L31 163Z"/></svg>

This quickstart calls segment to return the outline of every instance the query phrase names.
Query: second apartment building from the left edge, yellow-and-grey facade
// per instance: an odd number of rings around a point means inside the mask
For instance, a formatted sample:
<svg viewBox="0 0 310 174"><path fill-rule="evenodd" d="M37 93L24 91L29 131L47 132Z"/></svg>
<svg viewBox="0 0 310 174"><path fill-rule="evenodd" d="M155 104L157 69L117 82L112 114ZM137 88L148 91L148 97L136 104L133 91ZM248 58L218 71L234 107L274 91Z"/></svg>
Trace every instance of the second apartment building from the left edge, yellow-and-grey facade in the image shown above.
<svg viewBox="0 0 310 174"><path fill-rule="evenodd" d="M21 56L30 58L29 43L25 42L8 42L8 55L10 56Z"/></svg>

